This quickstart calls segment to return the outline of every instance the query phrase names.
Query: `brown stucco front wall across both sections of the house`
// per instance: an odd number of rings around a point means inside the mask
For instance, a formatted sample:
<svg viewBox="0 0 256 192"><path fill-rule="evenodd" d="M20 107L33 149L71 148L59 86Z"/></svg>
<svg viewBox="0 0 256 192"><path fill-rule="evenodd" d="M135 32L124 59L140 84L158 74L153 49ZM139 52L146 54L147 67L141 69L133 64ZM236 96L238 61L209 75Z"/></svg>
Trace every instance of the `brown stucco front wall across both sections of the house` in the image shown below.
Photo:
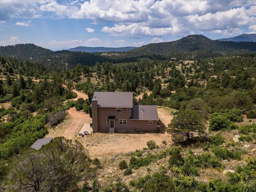
<svg viewBox="0 0 256 192"><path fill-rule="evenodd" d="M148 120L130 120L132 116L132 108L127 111L127 108L122 108L121 112L116 112L116 108L101 108L98 107L98 131L109 130L110 121L107 120L108 116L116 116L114 120L114 128L116 131L156 131L157 121L154 120L153 124L149 125ZM119 124L119 119L126 119L127 124Z"/></svg>

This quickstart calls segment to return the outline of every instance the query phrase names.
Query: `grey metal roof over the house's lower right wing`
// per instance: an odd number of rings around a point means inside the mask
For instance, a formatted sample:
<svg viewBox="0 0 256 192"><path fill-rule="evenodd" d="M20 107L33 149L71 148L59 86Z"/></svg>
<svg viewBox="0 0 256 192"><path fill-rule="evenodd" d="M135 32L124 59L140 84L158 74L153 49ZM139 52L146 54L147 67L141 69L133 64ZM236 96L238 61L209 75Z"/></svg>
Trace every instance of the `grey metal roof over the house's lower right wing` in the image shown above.
<svg viewBox="0 0 256 192"><path fill-rule="evenodd" d="M136 120L158 120L156 105L134 105L132 119Z"/></svg>

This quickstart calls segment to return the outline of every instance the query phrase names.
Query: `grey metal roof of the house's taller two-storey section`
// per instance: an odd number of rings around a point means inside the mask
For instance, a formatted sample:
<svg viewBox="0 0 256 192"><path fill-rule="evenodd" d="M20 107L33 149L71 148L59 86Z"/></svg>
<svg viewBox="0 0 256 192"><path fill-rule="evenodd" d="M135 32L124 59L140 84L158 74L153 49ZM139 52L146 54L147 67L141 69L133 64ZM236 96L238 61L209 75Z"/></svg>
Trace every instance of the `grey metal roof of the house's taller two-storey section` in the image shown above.
<svg viewBox="0 0 256 192"><path fill-rule="evenodd" d="M93 100L98 101L99 107L132 108L132 92L94 92Z"/></svg>

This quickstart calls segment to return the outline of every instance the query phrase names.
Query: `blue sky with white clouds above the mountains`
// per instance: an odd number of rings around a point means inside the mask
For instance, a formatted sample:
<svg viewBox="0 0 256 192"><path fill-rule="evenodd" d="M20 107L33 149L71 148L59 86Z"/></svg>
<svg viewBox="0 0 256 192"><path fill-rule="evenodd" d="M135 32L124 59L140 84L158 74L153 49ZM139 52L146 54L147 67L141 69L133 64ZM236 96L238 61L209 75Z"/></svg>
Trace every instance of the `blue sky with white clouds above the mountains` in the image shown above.
<svg viewBox="0 0 256 192"><path fill-rule="evenodd" d="M256 34L256 0L0 0L0 46L51 50Z"/></svg>

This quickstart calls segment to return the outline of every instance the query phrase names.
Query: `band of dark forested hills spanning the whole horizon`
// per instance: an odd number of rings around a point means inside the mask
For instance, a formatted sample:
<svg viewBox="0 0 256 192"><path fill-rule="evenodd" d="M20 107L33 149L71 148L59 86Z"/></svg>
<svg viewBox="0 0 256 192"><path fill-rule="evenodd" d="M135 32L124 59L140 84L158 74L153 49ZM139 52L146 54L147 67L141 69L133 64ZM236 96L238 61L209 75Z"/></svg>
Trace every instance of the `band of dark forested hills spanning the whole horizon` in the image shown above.
<svg viewBox="0 0 256 192"><path fill-rule="evenodd" d="M132 48L132 47L127 47ZM76 49L76 48L74 48ZM78 47L81 51L51 51L34 44L17 44L14 46L1 46L0 56L16 58L18 60L45 63L54 66L58 70L66 67L72 69L76 64L82 66L94 66L97 62L110 62L113 64L122 62L136 62L138 60L166 60L176 58L177 60L197 60L205 58L216 58L220 56L234 56L256 52L256 42L232 42L211 40L203 35L190 35L177 41L152 43L124 52L107 52L104 48ZM116 48L121 51L121 48ZM123 49L123 48L122 48ZM89 53L84 51L99 51ZM116 51L116 50L114 50Z"/></svg>

